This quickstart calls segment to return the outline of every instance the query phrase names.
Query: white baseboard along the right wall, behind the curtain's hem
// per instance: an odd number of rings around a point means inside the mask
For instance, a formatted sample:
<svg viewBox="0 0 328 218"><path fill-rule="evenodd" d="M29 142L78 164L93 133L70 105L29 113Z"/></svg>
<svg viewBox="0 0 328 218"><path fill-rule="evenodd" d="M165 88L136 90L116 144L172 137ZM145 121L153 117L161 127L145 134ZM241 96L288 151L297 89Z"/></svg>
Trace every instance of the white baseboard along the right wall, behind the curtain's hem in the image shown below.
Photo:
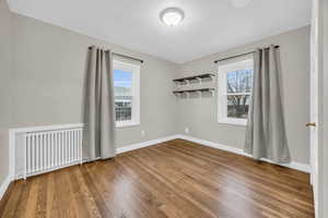
<svg viewBox="0 0 328 218"><path fill-rule="evenodd" d="M222 145L222 144L218 144L218 143L213 143L213 142L209 142L209 141L204 141L204 140L199 140L199 138L196 138L196 137L191 137L189 135L183 135L181 134L181 135L177 135L177 136L178 136L178 138L190 141L190 142L198 143L198 144L201 144L201 145L206 145L206 146L209 146L209 147L213 147L213 148L216 148L216 149L222 149L222 150L226 150L226 152L230 152L230 153L235 153L237 155L251 157L251 155L245 153L241 148L236 148L236 147L232 147L232 146L227 146L227 145ZM291 168L291 169L300 170L300 171L307 172L307 173L311 172L311 166L305 165L305 164L301 164L301 162L292 161L290 164L281 165L281 164L276 164L276 162L273 162L269 159L266 159L266 158L261 158L261 160L266 161L266 162L273 164L273 165L279 165L279 166L288 167L288 168Z"/></svg>

